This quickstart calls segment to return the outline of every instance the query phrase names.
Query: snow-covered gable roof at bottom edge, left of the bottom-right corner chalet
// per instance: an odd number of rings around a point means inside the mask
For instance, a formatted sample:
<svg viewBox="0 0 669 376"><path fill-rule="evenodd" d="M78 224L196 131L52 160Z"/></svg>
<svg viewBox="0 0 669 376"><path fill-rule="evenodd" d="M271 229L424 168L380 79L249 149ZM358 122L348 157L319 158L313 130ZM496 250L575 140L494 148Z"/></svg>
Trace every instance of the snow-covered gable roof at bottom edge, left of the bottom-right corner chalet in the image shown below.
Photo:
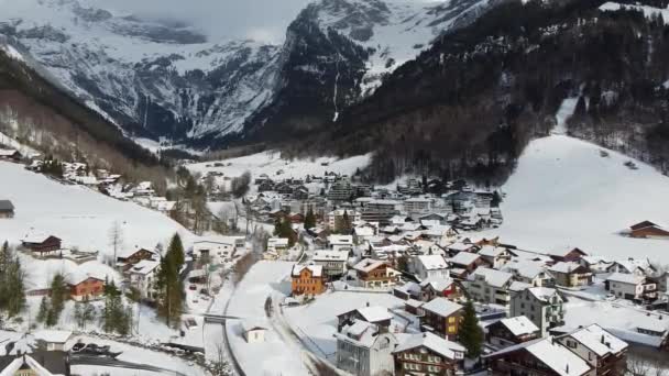
<svg viewBox="0 0 669 376"><path fill-rule="evenodd" d="M546 364L560 376L580 376L590 371L590 366L584 360L558 342L553 342L552 336L509 346L495 353L484 355L484 357L496 357L519 350L525 350L533 354L537 360Z"/></svg>

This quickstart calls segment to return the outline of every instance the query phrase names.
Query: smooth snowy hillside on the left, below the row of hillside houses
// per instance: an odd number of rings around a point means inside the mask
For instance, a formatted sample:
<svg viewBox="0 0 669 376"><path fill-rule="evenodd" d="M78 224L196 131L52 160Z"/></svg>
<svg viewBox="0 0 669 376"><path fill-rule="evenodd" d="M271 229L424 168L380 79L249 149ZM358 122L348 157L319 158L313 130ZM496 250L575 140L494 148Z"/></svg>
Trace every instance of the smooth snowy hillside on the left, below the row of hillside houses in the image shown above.
<svg viewBox="0 0 669 376"><path fill-rule="evenodd" d="M114 221L123 233L123 250L153 250L158 242L166 246L175 232L186 246L194 237L157 211L83 186L62 185L25 170L23 165L0 162L0 199L9 199L15 207L13 219L0 219L0 241L12 244L28 233L44 233L61 237L64 247L112 255L109 231Z"/></svg>

